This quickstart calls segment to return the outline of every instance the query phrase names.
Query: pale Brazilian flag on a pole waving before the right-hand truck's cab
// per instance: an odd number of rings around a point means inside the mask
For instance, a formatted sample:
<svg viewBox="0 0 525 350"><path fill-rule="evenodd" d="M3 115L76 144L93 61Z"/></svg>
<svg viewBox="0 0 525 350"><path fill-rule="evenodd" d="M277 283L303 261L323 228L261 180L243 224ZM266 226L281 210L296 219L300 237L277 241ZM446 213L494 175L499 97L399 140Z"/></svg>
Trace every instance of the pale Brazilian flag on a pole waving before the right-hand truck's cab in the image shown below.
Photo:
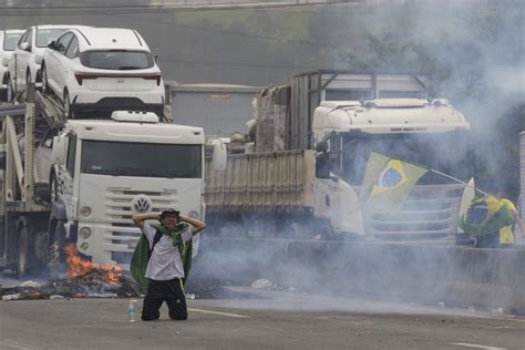
<svg viewBox="0 0 525 350"><path fill-rule="evenodd" d="M371 152L360 200L374 209L401 210L404 199L426 172L421 166Z"/></svg>

